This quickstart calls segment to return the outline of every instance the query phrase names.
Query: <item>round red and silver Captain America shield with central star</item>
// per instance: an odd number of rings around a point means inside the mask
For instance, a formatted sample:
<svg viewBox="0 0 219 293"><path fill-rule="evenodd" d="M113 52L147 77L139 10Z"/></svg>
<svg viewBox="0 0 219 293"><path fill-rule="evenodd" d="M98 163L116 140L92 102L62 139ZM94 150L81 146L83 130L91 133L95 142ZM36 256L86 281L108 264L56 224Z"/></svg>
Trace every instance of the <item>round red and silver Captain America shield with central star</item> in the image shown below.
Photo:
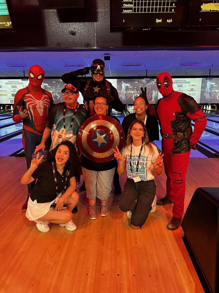
<svg viewBox="0 0 219 293"><path fill-rule="evenodd" d="M122 150L125 141L124 131L114 118L107 115L94 115L80 127L78 146L88 159L103 163L114 159L112 148Z"/></svg>

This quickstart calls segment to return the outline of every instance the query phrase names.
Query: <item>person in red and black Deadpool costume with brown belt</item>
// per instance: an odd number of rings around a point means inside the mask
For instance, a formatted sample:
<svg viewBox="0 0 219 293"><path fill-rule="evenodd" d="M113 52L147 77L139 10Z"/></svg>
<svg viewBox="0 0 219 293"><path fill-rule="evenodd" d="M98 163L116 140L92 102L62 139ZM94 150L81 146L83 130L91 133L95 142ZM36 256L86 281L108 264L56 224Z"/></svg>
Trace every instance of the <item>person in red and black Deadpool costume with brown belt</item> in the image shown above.
<svg viewBox="0 0 219 293"><path fill-rule="evenodd" d="M173 203L173 218L167 228L180 226L184 211L185 176L190 151L197 149L207 119L194 98L173 90L171 75L163 72L157 76L157 88L163 98L156 105L161 127L164 168L167 176L166 197L157 200L157 205ZM191 121L195 122L192 132Z"/></svg>

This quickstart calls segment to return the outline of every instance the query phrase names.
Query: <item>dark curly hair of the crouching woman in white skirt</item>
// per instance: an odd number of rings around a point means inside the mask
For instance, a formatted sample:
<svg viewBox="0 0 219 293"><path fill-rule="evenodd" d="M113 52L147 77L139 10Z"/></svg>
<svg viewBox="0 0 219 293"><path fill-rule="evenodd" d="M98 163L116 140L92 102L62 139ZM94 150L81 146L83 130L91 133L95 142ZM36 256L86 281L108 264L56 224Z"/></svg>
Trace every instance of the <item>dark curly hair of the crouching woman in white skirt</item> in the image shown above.
<svg viewBox="0 0 219 293"><path fill-rule="evenodd" d="M65 145L66 147L69 148L69 159L66 162L65 166L67 167L67 170L74 172L76 182L79 183L80 182L79 159L78 159L75 146L72 142L68 140L62 140L62 142L60 142L58 146L56 146L53 150L51 150L48 153L48 157L45 162L55 162L55 154L60 145Z"/></svg>

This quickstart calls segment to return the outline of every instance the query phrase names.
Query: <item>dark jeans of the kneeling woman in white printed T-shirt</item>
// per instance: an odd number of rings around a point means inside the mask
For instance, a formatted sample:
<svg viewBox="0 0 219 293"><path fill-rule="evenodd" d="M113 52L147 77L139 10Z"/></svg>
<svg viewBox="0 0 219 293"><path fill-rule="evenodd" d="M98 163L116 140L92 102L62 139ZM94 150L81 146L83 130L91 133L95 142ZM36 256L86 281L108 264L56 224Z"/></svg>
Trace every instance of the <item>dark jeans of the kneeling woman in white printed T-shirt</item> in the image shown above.
<svg viewBox="0 0 219 293"><path fill-rule="evenodd" d="M154 180L135 183L133 179L127 178L119 208L122 212L128 212L131 210L135 200L137 200L132 212L131 224L133 226L142 226L147 220L155 195L156 184Z"/></svg>

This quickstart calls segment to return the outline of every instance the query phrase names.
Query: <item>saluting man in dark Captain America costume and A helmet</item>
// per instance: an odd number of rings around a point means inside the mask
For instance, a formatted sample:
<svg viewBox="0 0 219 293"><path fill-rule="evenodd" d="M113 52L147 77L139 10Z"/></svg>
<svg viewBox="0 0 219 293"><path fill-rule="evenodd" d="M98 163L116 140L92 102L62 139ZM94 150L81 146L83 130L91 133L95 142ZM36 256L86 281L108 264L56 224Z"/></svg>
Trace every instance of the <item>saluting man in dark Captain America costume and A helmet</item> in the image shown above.
<svg viewBox="0 0 219 293"><path fill-rule="evenodd" d="M79 75L88 74L89 70L91 70L92 78L78 77ZM66 84L72 84L82 93L85 108L91 116L95 115L93 101L100 96L106 98L108 105L116 111L122 112L124 110L116 88L105 79L105 62L101 59L93 60L91 67L66 73L62 75L61 79ZM120 194L122 192L117 169L113 178L113 186L115 187L115 193ZM84 183L81 185L80 190L85 190Z"/></svg>

